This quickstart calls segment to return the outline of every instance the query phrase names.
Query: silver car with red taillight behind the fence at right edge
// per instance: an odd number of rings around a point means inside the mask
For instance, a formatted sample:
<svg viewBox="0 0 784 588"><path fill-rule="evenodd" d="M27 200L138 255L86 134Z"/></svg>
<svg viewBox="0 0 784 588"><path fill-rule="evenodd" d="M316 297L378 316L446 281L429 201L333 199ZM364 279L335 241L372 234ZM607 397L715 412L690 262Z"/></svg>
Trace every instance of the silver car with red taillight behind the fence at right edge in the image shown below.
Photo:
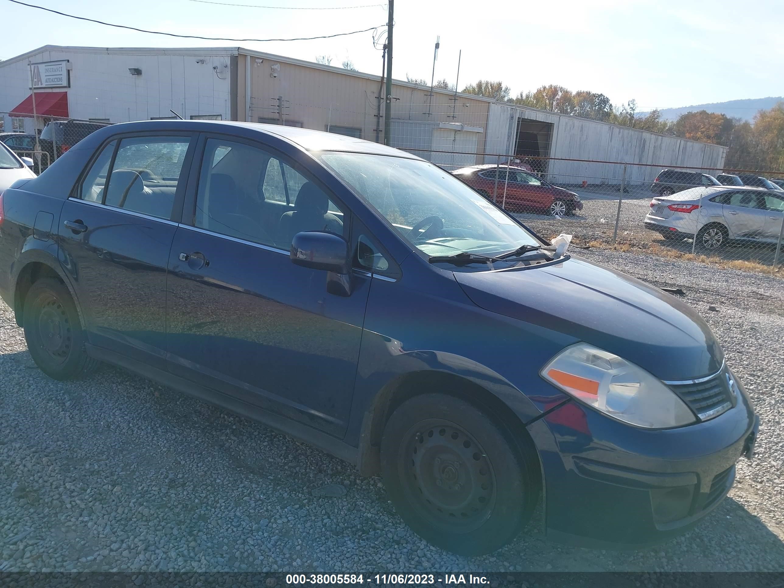
<svg viewBox="0 0 784 588"><path fill-rule="evenodd" d="M666 239L694 238L704 249L727 241L775 243L784 223L784 192L756 187L696 187L651 201L645 227Z"/></svg>

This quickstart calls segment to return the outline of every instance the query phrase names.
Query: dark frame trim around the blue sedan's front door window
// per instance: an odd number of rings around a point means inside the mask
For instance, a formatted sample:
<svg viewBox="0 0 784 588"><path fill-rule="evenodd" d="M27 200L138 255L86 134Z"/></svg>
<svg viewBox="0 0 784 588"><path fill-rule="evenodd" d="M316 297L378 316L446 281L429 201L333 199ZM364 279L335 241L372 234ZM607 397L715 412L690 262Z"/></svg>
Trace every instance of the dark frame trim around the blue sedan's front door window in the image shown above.
<svg viewBox="0 0 784 588"><path fill-rule="evenodd" d="M196 229L199 232L203 232L205 234L217 235L219 237L230 239L231 241L237 241L238 243L256 245L261 249L268 249L270 251L278 253L282 252L285 253L285 255L289 255L289 249L281 249L279 247L274 247L273 245L264 245L254 241L245 241L244 239L230 237L230 235L216 233L212 230L203 229L196 226L196 199L198 198L198 187L201 180L201 166L204 164L205 147L207 146L207 141L210 139L225 140L230 141L231 143L241 143L249 147L256 147L256 149L260 149L261 151L266 151L268 154L270 154L270 156L277 158L278 162L288 165L295 172L299 173L299 175L303 176L307 181L314 183L316 187L327 194L327 198L343 212L343 235L341 235L341 237L343 237L343 239L345 239L349 244L351 243L351 231L350 228L347 230L346 227L347 223L349 223L348 227L351 227L350 223L354 218L354 213L351 212L351 209L340 198L336 197L332 190L326 187L324 183L321 182L321 180L318 180L318 178L315 177L313 173L310 172L310 170L306 169L303 165L299 165L299 163L292 162L291 158L271 145L262 143L259 140L246 139L245 137L241 136L229 135L225 132L199 133L198 141L196 142L197 149L196 153L194 153L194 161L191 165L191 173L187 180L187 194L185 198L185 205L187 205L187 208L183 205L183 215L182 220L180 220L180 226L187 227L189 229ZM198 160L196 158L198 158ZM285 175L283 178L285 186ZM285 190L287 194L286 206L289 207L291 205L288 201L288 187L285 187Z"/></svg>

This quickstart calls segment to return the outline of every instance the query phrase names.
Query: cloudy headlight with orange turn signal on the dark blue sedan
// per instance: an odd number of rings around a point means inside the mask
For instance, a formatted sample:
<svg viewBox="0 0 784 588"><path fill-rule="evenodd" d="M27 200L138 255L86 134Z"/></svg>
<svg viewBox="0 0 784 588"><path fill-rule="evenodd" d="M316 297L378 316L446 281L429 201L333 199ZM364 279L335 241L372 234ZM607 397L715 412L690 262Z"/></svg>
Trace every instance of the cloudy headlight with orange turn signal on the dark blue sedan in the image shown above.
<svg viewBox="0 0 784 588"><path fill-rule="evenodd" d="M684 401L659 379L587 343L561 351L541 374L577 400L624 423L664 429L696 421Z"/></svg>

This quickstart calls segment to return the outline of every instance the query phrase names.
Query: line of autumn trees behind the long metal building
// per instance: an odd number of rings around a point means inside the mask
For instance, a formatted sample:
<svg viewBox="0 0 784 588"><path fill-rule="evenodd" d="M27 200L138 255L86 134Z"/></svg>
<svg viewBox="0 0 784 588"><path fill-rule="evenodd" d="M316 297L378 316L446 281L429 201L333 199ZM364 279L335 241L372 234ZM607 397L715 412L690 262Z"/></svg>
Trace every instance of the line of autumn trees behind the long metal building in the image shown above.
<svg viewBox="0 0 784 588"><path fill-rule="evenodd" d="M419 82L413 79L409 81ZM437 87L448 88L448 82L442 82L446 85ZM454 89L454 86L451 89ZM784 171L784 102L778 103L770 110L759 111L753 122L708 111L687 112L681 114L676 121L666 121L662 120L659 110L638 113L635 100L613 105L604 94L587 90L572 92L562 85L543 85L533 92L521 92L513 97L510 95L509 86L503 82L479 80L466 85L463 93L723 145L729 147L725 162L727 169Z"/></svg>

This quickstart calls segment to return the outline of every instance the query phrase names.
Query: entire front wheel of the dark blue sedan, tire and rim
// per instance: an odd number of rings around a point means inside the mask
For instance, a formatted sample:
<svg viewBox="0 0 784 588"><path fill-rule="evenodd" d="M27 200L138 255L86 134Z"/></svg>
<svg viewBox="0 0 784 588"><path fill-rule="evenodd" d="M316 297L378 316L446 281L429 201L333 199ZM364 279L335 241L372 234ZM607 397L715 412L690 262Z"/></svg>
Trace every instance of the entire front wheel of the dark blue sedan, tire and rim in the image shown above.
<svg viewBox="0 0 784 588"><path fill-rule="evenodd" d="M538 465L493 419L446 394L400 405L381 439L384 485L417 535L452 553L509 543L539 497Z"/></svg>

